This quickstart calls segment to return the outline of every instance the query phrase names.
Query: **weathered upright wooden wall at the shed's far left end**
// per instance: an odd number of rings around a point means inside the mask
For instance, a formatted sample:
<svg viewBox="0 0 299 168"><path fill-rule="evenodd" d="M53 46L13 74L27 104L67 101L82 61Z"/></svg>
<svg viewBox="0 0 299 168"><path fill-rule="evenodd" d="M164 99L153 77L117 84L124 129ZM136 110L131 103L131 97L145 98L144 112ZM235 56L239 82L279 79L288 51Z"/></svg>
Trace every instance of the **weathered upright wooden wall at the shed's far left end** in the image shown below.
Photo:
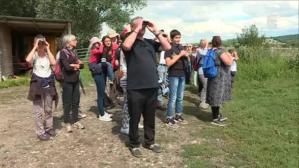
<svg viewBox="0 0 299 168"><path fill-rule="evenodd" d="M0 23L0 76L13 76L10 27Z"/></svg>

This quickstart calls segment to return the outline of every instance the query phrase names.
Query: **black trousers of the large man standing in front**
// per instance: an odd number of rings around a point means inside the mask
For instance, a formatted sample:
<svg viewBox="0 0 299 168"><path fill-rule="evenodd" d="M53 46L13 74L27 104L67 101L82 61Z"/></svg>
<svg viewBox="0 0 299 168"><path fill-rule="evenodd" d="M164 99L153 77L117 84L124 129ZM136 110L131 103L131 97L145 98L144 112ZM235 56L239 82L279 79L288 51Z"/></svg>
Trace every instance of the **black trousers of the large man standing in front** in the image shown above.
<svg viewBox="0 0 299 168"><path fill-rule="evenodd" d="M158 88L127 90L129 121L129 139L132 148L139 147L138 124L141 114L144 118L144 141L146 145L154 144L155 106Z"/></svg>

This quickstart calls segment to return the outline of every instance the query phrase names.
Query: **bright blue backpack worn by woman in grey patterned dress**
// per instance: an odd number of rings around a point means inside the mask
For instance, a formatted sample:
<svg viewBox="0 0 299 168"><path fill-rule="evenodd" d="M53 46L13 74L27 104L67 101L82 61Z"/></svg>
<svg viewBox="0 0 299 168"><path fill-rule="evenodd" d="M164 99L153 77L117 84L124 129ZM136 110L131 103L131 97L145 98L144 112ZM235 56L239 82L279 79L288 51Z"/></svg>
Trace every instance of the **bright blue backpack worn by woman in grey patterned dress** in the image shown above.
<svg viewBox="0 0 299 168"><path fill-rule="evenodd" d="M205 78L215 78L217 76L215 59L214 50L209 50L206 56L204 56L203 71Z"/></svg>

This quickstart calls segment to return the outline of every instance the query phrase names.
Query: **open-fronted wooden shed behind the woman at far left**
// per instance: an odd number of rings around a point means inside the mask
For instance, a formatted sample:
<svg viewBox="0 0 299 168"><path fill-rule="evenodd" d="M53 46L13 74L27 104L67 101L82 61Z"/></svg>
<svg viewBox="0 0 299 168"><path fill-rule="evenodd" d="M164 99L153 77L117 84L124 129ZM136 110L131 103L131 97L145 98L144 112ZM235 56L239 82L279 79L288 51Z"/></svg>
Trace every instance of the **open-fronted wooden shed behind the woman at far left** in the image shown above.
<svg viewBox="0 0 299 168"><path fill-rule="evenodd" d="M70 20L0 16L0 81L28 68L25 56L32 50L35 35L42 34L56 54L56 38L71 33ZM19 60L19 62L18 62ZM16 62L17 61L17 62Z"/></svg>

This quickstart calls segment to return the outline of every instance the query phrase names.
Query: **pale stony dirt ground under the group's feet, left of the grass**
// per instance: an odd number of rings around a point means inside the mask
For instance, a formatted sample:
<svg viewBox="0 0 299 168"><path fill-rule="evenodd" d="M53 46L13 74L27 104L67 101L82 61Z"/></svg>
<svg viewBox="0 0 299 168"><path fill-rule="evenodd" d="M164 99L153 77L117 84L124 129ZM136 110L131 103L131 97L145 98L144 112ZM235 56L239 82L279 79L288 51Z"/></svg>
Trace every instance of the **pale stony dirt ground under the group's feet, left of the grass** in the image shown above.
<svg viewBox="0 0 299 168"><path fill-rule="evenodd" d="M157 111L156 143L163 152L156 154L142 148L143 158L135 158L126 147L127 136L120 134L121 111L114 113L112 122L96 118L95 86L86 88L81 105L87 117L82 119L84 130L65 133L61 101L54 110L54 127L59 137L50 141L39 141L35 136L32 102L27 100L29 87L13 87L0 90L0 167L7 168L182 168L183 147L197 144L196 135L200 125L198 119L186 115L188 125L172 129L163 124L166 112ZM186 97L196 95L186 91ZM189 95L189 96L188 96ZM167 100L165 100L166 102ZM184 111L198 111L195 104L184 104ZM162 119L162 120L161 120ZM193 124L192 124L192 121ZM143 130L140 140L143 142Z"/></svg>

